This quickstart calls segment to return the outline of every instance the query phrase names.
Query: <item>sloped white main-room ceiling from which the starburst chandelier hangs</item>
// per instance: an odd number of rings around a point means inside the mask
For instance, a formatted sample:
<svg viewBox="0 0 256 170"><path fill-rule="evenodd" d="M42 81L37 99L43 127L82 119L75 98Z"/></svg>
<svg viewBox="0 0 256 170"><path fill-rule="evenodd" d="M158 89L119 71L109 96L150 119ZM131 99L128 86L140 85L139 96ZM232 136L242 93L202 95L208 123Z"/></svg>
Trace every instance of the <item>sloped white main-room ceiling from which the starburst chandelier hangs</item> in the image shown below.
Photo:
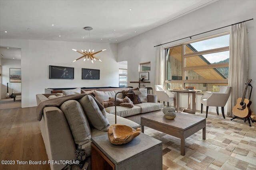
<svg viewBox="0 0 256 170"><path fill-rule="evenodd" d="M215 1L0 0L0 37L120 43Z"/></svg>

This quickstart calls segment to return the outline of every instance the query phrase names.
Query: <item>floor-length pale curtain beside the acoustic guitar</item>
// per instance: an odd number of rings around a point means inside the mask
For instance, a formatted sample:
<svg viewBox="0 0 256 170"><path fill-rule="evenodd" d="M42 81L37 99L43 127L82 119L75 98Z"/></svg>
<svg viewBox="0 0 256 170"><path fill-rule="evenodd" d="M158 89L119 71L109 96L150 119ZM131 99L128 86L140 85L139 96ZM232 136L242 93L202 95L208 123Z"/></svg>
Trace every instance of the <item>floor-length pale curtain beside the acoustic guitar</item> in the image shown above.
<svg viewBox="0 0 256 170"><path fill-rule="evenodd" d="M244 22L231 26L229 51L228 85L232 86L232 92L227 115L233 116L232 108L236 105L237 98L243 96L248 79L248 43Z"/></svg>

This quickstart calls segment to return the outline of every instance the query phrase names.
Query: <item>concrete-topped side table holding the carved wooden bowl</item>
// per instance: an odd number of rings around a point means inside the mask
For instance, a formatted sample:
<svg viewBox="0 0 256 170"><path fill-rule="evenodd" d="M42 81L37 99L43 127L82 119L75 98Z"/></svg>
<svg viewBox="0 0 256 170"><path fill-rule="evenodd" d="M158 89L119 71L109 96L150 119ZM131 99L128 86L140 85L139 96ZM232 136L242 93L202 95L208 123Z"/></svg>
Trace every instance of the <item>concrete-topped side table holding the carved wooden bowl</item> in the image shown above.
<svg viewBox="0 0 256 170"><path fill-rule="evenodd" d="M113 145L108 135L92 137L92 170L162 170L162 142L141 133L124 145Z"/></svg>

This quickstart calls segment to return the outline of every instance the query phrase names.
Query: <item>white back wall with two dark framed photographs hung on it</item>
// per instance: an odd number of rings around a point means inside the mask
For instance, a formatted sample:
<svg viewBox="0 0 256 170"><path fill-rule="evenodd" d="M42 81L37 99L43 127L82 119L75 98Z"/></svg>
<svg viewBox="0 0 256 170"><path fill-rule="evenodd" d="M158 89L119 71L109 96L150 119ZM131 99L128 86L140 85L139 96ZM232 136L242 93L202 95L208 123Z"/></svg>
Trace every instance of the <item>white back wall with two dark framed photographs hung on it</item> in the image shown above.
<svg viewBox="0 0 256 170"><path fill-rule="evenodd" d="M107 49L96 56L102 60L75 59L81 55L72 49L89 49L89 43L66 41L41 41L0 39L0 45L21 48L22 107L36 106L36 94L45 88L73 88L118 86L117 46L107 43L91 43L94 51ZM74 80L49 79L49 65L74 67ZM100 69L100 80L82 80L82 68Z"/></svg>

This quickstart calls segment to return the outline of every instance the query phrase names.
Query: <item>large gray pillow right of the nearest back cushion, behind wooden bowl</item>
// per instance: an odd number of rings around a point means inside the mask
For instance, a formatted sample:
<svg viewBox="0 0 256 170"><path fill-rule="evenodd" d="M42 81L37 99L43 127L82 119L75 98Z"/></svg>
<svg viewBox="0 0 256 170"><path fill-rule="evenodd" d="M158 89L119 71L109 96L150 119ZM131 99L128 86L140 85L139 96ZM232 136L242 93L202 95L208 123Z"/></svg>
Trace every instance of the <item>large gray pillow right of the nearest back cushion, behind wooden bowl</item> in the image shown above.
<svg viewBox="0 0 256 170"><path fill-rule="evenodd" d="M109 122L105 109L100 110L94 98L86 95L78 102L81 104L90 125L100 131L108 131Z"/></svg>

